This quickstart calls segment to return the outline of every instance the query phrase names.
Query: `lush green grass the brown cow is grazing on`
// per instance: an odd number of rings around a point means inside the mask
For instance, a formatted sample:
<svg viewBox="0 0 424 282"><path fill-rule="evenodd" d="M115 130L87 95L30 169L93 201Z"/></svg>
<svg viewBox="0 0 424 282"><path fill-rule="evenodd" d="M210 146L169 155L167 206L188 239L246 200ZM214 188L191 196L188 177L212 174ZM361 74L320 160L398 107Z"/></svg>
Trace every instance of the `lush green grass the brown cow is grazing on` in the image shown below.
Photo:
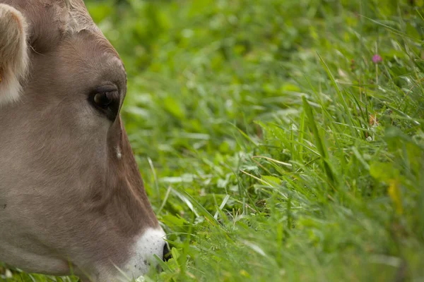
<svg viewBox="0 0 424 282"><path fill-rule="evenodd" d="M88 7L173 245L146 281L424 281L423 0Z"/></svg>

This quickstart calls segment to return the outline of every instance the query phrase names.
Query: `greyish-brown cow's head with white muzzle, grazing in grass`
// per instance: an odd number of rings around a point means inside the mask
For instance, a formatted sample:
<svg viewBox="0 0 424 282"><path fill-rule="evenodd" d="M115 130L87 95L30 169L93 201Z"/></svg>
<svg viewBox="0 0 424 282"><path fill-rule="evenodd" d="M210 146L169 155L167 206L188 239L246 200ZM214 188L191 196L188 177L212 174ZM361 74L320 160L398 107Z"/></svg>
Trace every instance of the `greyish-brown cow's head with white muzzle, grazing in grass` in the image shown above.
<svg viewBox="0 0 424 282"><path fill-rule="evenodd" d="M83 0L0 0L0 261L105 282L168 252L119 116L125 94Z"/></svg>

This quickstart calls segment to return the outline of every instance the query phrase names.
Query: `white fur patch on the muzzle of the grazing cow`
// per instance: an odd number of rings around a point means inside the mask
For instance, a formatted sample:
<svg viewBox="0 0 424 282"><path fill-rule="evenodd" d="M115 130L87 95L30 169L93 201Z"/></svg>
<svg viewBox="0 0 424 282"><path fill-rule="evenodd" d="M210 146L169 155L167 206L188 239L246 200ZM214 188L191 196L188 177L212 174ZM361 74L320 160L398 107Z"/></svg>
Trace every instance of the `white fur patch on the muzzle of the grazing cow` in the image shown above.
<svg viewBox="0 0 424 282"><path fill-rule="evenodd" d="M148 228L134 243L131 257L126 262L124 272L129 278L138 278L146 274L153 265L157 264L153 255L163 258L165 247L165 232L162 228Z"/></svg>

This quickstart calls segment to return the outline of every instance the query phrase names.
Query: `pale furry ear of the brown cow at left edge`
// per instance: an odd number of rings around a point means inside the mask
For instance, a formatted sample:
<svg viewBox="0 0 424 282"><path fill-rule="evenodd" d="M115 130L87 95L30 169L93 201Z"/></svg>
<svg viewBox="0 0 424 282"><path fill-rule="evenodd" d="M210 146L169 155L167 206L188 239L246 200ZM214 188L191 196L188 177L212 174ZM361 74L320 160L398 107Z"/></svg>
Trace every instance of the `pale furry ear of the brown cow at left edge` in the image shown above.
<svg viewBox="0 0 424 282"><path fill-rule="evenodd" d="M28 25L16 8L0 4L0 107L16 101L28 70Z"/></svg>

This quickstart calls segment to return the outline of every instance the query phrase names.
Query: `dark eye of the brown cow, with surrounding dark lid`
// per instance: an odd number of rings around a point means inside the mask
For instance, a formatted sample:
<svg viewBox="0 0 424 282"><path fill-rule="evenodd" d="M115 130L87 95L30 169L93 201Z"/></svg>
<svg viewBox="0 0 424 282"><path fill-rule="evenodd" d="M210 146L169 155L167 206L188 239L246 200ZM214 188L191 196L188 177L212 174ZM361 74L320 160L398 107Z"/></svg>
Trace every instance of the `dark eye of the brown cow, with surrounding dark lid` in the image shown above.
<svg viewBox="0 0 424 282"><path fill-rule="evenodd" d="M96 110L105 115L110 121L114 121L117 117L120 104L117 87L98 87L91 92L88 100Z"/></svg>

